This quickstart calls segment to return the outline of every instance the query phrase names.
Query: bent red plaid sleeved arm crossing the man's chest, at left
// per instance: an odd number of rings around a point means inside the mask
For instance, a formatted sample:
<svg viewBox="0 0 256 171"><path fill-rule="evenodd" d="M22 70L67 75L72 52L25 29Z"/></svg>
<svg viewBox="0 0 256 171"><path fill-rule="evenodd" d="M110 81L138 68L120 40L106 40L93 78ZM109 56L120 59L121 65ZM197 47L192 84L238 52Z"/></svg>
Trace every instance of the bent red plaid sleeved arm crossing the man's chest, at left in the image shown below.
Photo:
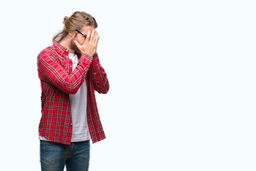
<svg viewBox="0 0 256 171"><path fill-rule="evenodd" d="M37 66L39 71L39 78L53 86L56 86L59 90L65 93L76 93L78 88L83 84L86 73L88 72L92 56L88 56L86 53L81 55L80 60L76 66L76 69L68 74L67 71L58 63L51 54L47 52L39 53L37 58Z"/></svg>

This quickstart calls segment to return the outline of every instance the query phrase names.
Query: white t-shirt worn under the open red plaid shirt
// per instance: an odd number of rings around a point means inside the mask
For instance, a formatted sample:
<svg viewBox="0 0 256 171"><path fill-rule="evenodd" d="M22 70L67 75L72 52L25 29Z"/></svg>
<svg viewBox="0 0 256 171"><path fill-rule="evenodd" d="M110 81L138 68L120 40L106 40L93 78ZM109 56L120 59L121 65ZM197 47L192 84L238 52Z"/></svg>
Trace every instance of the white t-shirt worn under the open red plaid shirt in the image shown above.
<svg viewBox="0 0 256 171"><path fill-rule="evenodd" d="M78 57L76 53L68 53L68 58L72 60L74 71L77 63ZM81 87L78 89L76 94L69 94L69 100L71 103L71 118L72 118L72 137L71 142L78 142L83 140L90 140L91 136L88 129L87 123L87 87L86 81L83 82ZM39 135L40 140L48 140Z"/></svg>

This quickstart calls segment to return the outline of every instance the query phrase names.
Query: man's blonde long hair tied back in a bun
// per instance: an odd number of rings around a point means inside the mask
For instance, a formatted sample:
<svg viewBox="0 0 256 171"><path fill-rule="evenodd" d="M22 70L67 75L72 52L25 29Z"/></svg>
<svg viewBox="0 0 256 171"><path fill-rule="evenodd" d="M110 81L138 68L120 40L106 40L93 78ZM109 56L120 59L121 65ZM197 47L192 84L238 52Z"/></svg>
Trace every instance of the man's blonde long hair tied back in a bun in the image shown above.
<svg viewBox="0 0 256 171"><path fill-rule="evenodd" d="M76 11L72 16L65 16L63 19L64 28L61 31L58 31L54 36L52 41L62 41L68 35L68 32L79 31L83 26L93 26L94 28L98 27L96 19L90 14L84 11Z"/></svg>

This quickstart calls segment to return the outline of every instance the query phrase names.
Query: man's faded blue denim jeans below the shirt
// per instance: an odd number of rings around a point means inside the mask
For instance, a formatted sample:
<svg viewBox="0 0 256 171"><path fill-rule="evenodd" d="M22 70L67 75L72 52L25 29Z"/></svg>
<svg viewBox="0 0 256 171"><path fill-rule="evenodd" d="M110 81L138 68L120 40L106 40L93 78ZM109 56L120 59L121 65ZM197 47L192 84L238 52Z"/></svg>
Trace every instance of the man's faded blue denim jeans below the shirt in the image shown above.
<svg viewBox="0 0 256 171"><path fill-rule="evenodd" d="M90 140L71 142L64 145L58 142L40 140L40 162L42 171L88 171Z"/></svg>

